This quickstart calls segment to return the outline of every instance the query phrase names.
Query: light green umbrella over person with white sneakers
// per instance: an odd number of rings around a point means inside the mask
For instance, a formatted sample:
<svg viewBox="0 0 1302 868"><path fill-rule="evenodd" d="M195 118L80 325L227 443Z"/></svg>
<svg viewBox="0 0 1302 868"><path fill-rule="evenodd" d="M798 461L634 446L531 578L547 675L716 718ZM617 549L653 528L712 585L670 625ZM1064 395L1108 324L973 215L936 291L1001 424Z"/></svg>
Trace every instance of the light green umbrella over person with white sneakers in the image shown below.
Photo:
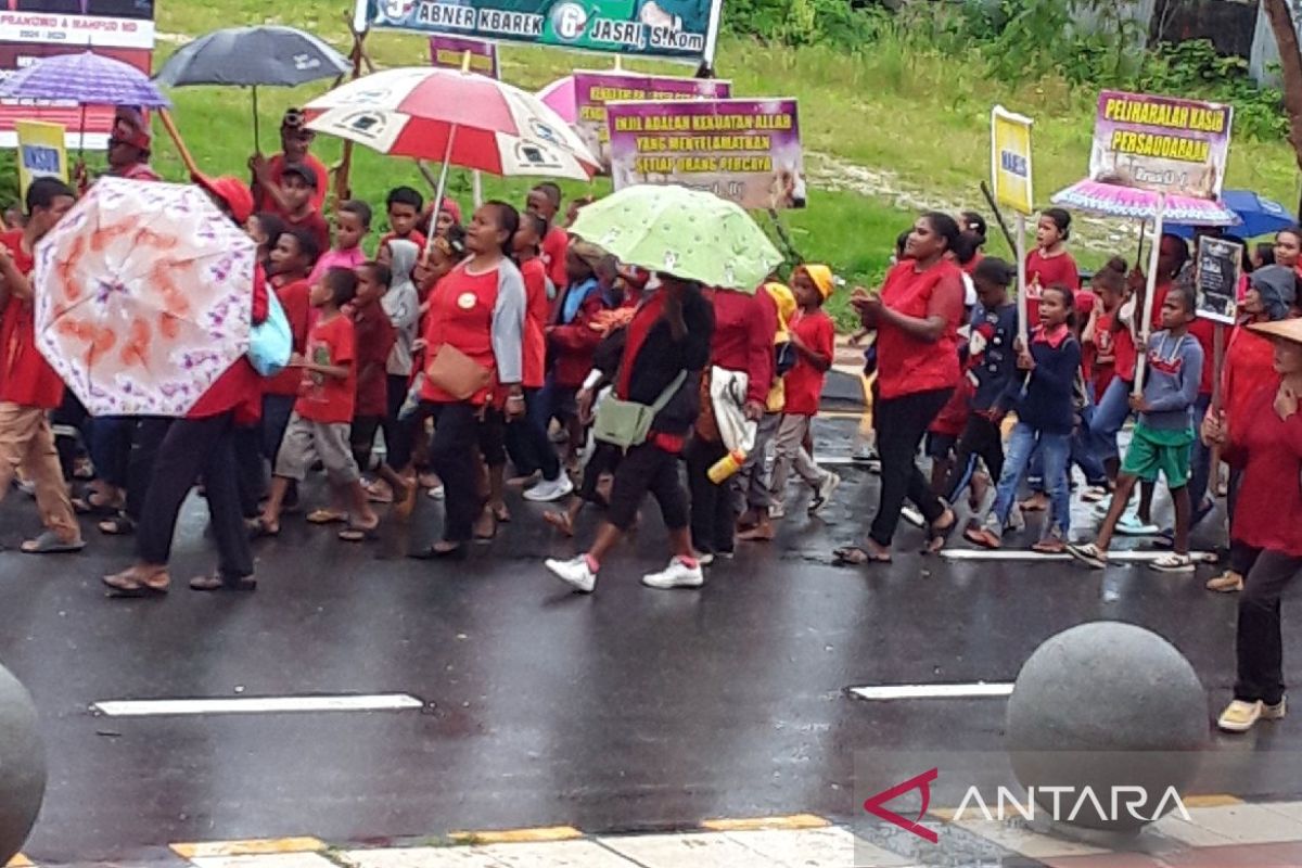
<svg viewBox="0 0 1302 868"><path fill-rule="evenodd" d="M680 186L625 187L579 211L570 232L629 265L743 293L783 262L740 206Z"/></svg>

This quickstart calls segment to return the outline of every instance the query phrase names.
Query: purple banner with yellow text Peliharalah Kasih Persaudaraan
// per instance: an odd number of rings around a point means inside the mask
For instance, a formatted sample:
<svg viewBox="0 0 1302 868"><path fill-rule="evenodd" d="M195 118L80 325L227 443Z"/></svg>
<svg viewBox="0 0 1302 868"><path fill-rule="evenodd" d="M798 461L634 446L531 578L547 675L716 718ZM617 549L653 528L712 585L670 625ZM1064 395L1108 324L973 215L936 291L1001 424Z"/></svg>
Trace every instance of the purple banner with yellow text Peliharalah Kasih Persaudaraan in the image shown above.
<svg viewBox="0 0 1302 868"><path fill-rule="evenodd" d="M1151 94L1103 91L1090 178L1139 190L1219 199L1234 109Z"/></svg>

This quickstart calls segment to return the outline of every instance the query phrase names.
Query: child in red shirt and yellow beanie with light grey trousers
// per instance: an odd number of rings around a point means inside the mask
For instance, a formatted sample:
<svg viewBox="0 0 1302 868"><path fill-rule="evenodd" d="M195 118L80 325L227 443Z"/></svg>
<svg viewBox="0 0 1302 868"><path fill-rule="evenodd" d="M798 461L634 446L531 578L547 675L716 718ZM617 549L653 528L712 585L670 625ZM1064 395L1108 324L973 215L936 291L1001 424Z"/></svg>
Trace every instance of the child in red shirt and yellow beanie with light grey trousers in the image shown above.
<svg viewBox="0 0 1302 868"><path fill-rule="evenodd" d="M803 446L814 416L818 415L823 381L832 367L836 327L823 310L832 289L832 272L825 265L801 265L792 273L792 292L799 305L790 328L796 366L786 373L783 387L786 403L777 428L769 492L773 502L781 505L786 493L786 475L794 466L801 479L814 489L810 515L828 502L841 481L836 474L819 468Z"/></svg>

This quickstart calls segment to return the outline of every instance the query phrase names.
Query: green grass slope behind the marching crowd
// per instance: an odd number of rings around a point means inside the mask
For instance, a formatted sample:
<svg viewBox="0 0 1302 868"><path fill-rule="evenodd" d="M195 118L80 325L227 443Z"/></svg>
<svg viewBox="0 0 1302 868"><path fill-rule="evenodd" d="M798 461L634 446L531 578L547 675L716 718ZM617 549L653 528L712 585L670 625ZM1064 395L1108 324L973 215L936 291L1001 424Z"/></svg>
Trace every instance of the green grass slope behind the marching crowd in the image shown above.
<svg viewBox="0 0 1302 868"><path fill-rule="evenodd" d="M312 30L337 47L349 44L346 0L299 0L292 12L268 17L268 7L254 0L160 0L158 25L164 34L197 35L232 23L288 23ZM380 65L417 65L427 60L426 42L415 34L379 33L367 40ZM161 64L172 46L159 43ZM503 77L525 88L538 88L573 68L609 68L596 55L505 46ZM690 74L690 68L654 61L630 61L631 69ZM1094 95L1070 91L1064 82L1046 79L1013 87L982 77L971 57L941 57L911 48L902 38L887 36L867 51L849 55L828 48L802 49L760 46L724 38L716 62L719 74L733 81L738 96L794 96L801 100L801 133L807 152L838 161L887 170L896 183L937 203L963 203L987 211L978 185L990 174L988 116L995 103L1035 118L1035 187L1040 199L1081 177L1088 163L1094 124ZM276 150L276 129L285 107L319 94L326 83L298 90L259 91L263 148ZM176 120L195 159L206 170L245 174L253 150L249 94L237 88L178 88L172 92ZM161 133L161 130L159 130ZM340 143L318 139L316 151L328 164L339 157ZM169 177L181 177L180 160L160 144L155 165ZM388 189L409 183L427 189L414 165L358 147L353 161L353 191L379 204ZM1234 141L1228 186L1249 186L1284 203L1298 200L1293 152L1285 142ZM527 180L505 182L484 178L484 193L512 202L523 199ZM566 195L586 185L565 183ZM596 191L609 187L595 182ZM452 193L470 199L470 180L454 172ZM829 193L815 182L810 207L785 212L783 220L796 249L807 259L825 260L849 284L876 280L885 265L896 234L913 220L913 210L896 204L891 191L880 195ZM764 221L767 223L767 220ZM1006 246L992 232L991 251ZM1117 252L1130 254L1130 243ZM1082 251L1083 252L1083 251ZM1083 252L1086 264L1104 258ZM844 294L842 294L844 295ZM842 299L844 303L844 299ZM841 311L842 306L836 306ZM840 318L845 324L846 319Z"/></svg>

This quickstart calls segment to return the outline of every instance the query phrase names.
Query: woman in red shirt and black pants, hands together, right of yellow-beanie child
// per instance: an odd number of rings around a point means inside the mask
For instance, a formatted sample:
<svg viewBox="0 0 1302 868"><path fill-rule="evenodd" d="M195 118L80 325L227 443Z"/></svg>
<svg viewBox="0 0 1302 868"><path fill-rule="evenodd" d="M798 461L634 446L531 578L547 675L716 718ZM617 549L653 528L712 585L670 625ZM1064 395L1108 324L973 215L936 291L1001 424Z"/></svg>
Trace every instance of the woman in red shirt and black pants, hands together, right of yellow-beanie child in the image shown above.
<svg viewBox="0 0 1302 868"><path fill-rule="evenodd" d="M878 329L872 418L881 455L881 493L865 547L838 549L840 563L891 561L891 540L905 497L930 523L930 550L939 550L957 523L915 463L927 427L962 376L957 347L963 282L958 267L945 258L957 241L953 217L924 213L909 233L904 262L887 273L881 293L871 295L859 288L850 299L863 325Z"/></svg>

